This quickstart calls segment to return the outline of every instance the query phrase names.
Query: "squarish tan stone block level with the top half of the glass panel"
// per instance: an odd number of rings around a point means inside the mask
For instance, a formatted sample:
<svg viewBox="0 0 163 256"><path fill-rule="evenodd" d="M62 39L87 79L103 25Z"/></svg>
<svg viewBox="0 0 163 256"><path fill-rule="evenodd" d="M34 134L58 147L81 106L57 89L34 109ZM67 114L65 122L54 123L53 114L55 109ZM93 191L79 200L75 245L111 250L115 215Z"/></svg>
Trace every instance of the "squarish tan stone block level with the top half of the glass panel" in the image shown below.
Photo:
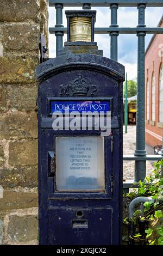
<svg viewBox="0 0 163 256"><path fill-rule="evenodd" d="M9 164L15 166L33 166L37 164L37 141L9 142Z"/></svg>

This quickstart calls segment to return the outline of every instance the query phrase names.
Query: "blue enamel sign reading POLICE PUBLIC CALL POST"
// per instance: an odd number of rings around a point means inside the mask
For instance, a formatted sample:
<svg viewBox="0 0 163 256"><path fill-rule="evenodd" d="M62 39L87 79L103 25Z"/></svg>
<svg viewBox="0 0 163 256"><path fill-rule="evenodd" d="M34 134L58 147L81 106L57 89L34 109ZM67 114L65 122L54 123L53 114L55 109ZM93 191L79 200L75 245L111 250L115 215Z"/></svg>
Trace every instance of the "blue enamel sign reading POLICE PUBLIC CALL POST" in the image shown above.
<svg viewBox="0 0 163 256"><path fill-rule="evenodd" d="M78 111L82 113L83 111L97 111L97 112L107 112L110 111L110 101L52 101L51 102L51 113L65 111Z"/></svg>

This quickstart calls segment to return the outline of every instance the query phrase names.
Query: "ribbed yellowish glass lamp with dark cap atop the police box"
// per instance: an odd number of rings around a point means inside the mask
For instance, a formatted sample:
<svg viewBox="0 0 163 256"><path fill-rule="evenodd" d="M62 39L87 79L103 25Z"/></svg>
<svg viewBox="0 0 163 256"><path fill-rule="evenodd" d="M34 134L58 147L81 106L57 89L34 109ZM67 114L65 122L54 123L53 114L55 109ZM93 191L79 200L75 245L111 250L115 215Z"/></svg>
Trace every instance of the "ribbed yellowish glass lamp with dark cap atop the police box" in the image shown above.
<svg viewBox="0 0 163 256"><path fill-rule="evenodd" d="M96 11L65 11L68 42L93 42Z"/></svg>

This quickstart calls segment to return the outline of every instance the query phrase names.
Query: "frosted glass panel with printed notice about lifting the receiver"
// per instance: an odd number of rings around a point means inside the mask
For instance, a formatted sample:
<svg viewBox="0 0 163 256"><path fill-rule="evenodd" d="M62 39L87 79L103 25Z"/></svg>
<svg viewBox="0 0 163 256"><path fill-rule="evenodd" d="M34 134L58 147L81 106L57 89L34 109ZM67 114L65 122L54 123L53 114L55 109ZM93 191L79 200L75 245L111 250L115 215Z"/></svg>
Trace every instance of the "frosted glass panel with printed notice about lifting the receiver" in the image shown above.
<svg viewBox="0 0 163 256"><path fill-rule="evenodd" d="M57 137L58 191L104 191L104 138Z"/></svg>

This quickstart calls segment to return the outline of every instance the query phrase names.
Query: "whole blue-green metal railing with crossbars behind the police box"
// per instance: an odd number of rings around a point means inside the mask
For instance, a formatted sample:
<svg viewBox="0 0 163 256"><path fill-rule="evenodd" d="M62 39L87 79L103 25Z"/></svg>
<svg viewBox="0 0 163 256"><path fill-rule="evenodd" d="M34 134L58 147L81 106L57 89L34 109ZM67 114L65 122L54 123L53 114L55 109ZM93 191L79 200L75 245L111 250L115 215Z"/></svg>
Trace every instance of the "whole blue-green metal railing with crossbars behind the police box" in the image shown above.
<svg viewBox="0 0 163 256"><path fill-rule="evenodd" d="M146 34L163 34L163 28L149 28L145 25L146 7L163 7L162 0L49 0L49 6L56 9L56 25L49 28L49 33L56 36L56 54L62 49L62 37L67 33L67 28L62 25L62 9L64 7L110 7L111 24L108 28L95 28L95 34L110 35L110 58L117 61L117 46L119 34L137 35L137 117L136 117L136 147L134 155L123 156L125 161L135 161L135 182L143 180L146 176L146 161L160 160L160 156L147 155L145 148L145 36ZM137 7L137 27L118 27L117 11L119 7ZM124 183L124 188L131 187L133 182Z"/></svg>

